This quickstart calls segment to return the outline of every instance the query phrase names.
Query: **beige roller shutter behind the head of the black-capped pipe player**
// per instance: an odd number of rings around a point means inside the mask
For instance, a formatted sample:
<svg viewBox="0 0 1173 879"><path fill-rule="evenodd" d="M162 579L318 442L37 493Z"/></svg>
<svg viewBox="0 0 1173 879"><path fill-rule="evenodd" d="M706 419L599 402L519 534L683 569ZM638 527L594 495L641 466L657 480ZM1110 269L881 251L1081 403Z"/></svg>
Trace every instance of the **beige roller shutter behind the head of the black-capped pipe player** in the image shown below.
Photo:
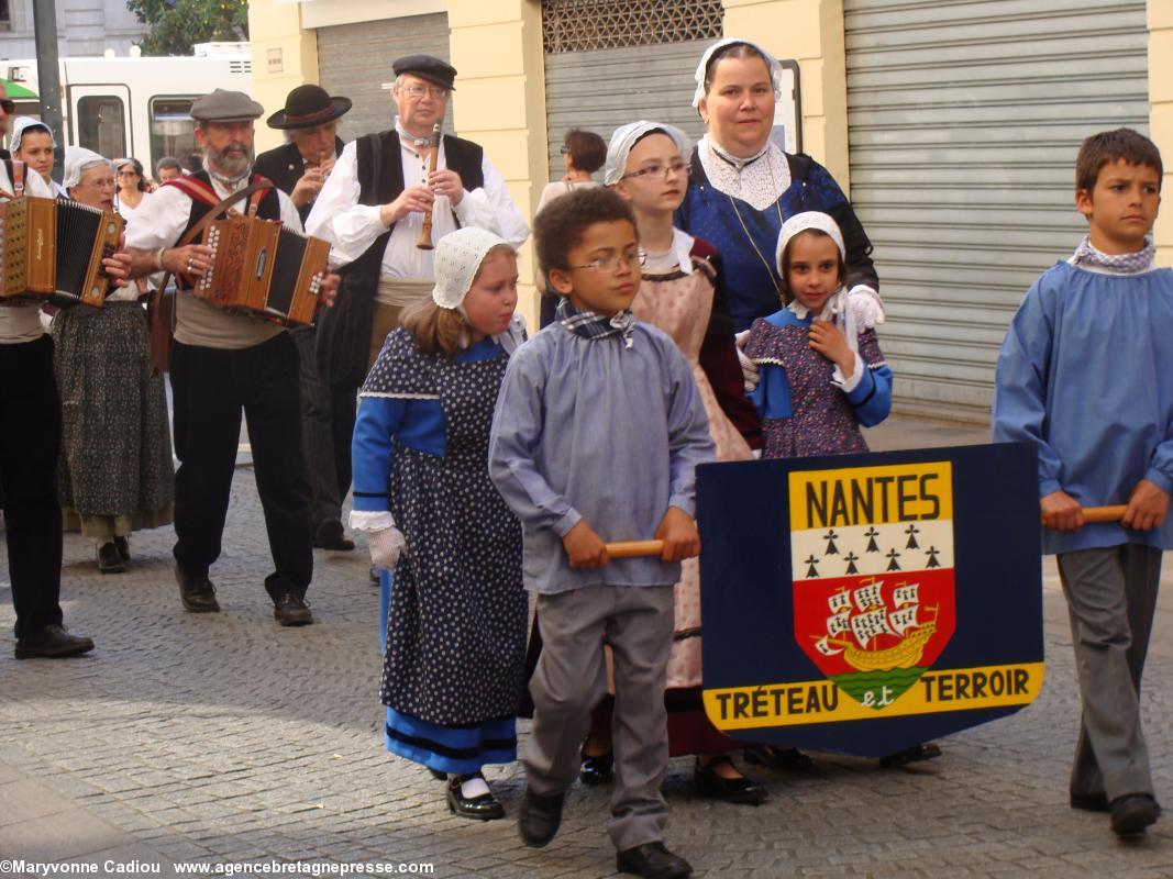
<svg viewBox="0 0 1173 879"><path fill-rule="evenodd" d="M389 89L382 88L395 79L391 64L404 55L421 53L450 61L447 14L318 28L319 84L331 95L345 95L354 102L351 111L343 116L339 137L350 142L391 128L395 105ZM450 101L443 128L453 131Z"/></svg>

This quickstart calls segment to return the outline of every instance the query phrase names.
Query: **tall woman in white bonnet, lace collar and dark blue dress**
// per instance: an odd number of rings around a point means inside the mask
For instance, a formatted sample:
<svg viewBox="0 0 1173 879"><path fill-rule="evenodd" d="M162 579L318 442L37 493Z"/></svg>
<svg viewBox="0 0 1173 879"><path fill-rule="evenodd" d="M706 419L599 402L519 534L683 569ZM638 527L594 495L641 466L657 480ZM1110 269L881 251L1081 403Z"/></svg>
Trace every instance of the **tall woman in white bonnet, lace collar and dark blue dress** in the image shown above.
<svg viewBox="0 0 1173 879"><path fill-rule="evenodd" d="M850 202L826 168L771 139L781 82L778 61L750 40L719 40L701 56L692 105L706 134L692 155L677 224L724 257L733 327L741 333L778 307L781 279L772 255L782 223L802 211L830 214L843 232L852 306L862 326L875 326L883 322L880 281Z"/></svg>

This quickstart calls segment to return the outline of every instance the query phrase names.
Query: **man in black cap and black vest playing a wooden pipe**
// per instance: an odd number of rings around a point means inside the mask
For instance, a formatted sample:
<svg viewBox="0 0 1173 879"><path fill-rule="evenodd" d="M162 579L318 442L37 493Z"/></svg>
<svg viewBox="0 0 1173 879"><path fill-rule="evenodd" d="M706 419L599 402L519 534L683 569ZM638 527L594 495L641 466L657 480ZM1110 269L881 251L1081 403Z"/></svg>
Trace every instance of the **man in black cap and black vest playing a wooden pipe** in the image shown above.
<svg viewBox="0 0 1173 879"><path fill-rule="evenodd" d="M443 120L456 70L430 55L394 62L393 129L346 144L306 220L345 266L338 308L318 323L318 368L335 393L358 391L401 311L432 293L433 252L418 245L426 216L432 241L480 226L514 246L529 227L484 150L445 135L428 172L433 125Z"/></svg>

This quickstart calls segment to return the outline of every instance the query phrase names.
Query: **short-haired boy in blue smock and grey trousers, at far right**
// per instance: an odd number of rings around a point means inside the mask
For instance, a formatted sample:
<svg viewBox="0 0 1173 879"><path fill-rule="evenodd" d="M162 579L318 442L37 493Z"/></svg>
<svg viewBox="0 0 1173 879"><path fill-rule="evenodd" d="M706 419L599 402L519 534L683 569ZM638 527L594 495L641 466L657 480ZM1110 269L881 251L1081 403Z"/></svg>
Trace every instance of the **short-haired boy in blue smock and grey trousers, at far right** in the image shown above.
<svg viewBox="0 0 1173 879"><path fill-rule="evenodd" d="M1140 676L1173 548L1173 273L1153 265L1161 157L1130 129L1089 137L1089 234L1028 291L998 357L994 438L1038 449L1043 551L1058 556L1083 707L1071 805L1118 836L1157 820ZM1126 505L1119 524L1086 506Z"/></svg>

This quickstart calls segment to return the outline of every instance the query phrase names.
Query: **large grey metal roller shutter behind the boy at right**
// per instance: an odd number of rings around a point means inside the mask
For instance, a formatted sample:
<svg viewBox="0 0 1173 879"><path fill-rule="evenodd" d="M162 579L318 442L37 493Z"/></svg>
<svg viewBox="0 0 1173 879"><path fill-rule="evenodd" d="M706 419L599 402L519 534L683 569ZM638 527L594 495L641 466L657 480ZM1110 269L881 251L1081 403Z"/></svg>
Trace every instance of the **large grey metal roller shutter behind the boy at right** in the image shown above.
<svg viewBox="0 0 1173 879"><path fill-rule="evenodd" d="M1035 278L1086 232L1087 135L1148 130L1145 2L845 0L850 193L904 411L985 421Z"/></svg>

